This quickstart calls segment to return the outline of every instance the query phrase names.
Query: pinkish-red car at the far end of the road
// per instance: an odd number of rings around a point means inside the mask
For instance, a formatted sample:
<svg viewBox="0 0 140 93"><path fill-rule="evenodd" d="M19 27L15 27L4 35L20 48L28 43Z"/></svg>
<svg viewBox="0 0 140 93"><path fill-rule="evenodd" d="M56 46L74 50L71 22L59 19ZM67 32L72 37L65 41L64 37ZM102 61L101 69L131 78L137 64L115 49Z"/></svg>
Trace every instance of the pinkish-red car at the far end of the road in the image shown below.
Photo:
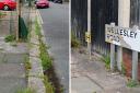
<svg viewBox="0 0 140 93"><path fill-rule="evenodd" d="M49 8L49 1L48 0L37 0L35 2L36 8Z"/></svg>

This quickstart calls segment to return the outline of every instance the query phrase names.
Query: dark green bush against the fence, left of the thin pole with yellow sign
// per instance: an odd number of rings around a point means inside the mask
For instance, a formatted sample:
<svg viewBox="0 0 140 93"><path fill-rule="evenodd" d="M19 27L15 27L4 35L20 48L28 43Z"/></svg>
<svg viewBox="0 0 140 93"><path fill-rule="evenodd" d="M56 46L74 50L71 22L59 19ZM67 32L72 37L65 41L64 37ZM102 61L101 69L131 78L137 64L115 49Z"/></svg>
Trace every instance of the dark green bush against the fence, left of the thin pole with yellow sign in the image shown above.
<svg viewBox="0 0 140 93"><path fill-rule="evenodd" d="M75 37L74 33L71 32L71 47L79 48L81 46L80 40Z"/></svg>

